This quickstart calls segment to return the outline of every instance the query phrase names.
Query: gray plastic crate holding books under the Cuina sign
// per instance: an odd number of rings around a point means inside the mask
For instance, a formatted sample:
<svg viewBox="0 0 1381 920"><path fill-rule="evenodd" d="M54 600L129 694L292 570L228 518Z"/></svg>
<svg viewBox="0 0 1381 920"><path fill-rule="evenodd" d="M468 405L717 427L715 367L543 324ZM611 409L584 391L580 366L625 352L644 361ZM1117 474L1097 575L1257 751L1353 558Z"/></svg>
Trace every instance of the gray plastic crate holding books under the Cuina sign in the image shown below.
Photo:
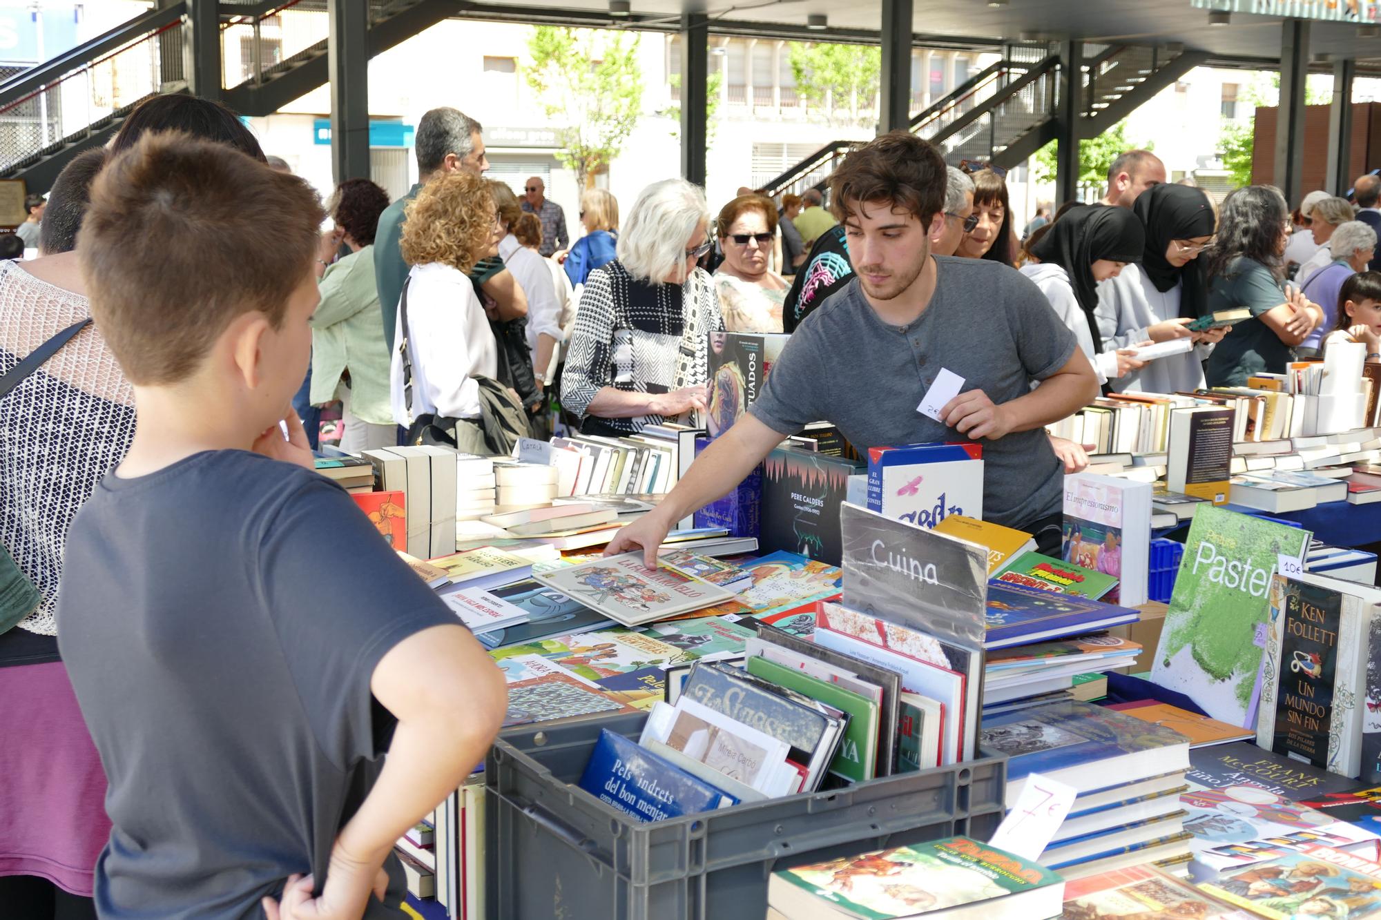
<svg viewBox="0 0 1381 920"><path fill-rule="evenodd" d="M485 917L762 920L776 869L953 834L986 840L1003 818L1007 758L986 756L639 823L573 783L601 728L637 739L645 720L500 735L485 761Z"/></svg>

